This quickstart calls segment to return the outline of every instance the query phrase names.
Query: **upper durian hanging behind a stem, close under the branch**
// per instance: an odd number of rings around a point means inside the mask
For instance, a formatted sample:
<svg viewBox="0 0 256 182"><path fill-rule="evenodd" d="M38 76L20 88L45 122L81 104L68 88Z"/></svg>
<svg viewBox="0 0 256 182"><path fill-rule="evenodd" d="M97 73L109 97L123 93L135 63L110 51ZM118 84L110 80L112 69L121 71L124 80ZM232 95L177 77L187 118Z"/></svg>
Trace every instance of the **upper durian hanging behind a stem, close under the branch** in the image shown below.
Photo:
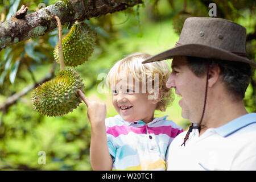
<svg viewBox="0 0 256 182"><path fill-rule="evenodd" d="M95 40L95 34L87 24L84 22L74 23L62 40L65 65L76 67L87 61L93 53ZM59 63L58 45L55 47L53 55Z"/></svg>

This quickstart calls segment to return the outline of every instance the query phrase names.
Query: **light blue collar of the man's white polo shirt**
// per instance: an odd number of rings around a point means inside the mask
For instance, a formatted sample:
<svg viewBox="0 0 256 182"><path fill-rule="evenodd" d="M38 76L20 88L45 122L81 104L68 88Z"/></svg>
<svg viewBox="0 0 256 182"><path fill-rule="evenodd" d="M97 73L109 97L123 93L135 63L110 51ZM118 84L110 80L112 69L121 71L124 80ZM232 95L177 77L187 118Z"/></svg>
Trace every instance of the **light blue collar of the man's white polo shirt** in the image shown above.
<svg viewBox="0 0 256 182"><path fill-rule="evenodd" d="M217 127L214 130L222 137L228 137L229 135L252 123L256 123L256 113L242 115L241 117L236 118L221 127Z"/></svg>

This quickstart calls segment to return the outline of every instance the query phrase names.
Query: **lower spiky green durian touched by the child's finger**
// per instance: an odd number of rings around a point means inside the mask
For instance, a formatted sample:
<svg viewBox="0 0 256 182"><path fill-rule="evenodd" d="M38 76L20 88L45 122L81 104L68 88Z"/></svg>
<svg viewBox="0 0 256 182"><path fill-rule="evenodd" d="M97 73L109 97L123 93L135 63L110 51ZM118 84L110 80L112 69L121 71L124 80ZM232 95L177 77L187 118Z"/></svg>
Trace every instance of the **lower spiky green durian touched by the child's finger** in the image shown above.
<svg viewBox="0 0 256 182"><path fill-rule="evenodd" d="M33 109L49 117L67 114L81 103L77 93L79 89L84 89L79 74L75 69L65 68L57 73L55 79L34 89Z"/></svg>

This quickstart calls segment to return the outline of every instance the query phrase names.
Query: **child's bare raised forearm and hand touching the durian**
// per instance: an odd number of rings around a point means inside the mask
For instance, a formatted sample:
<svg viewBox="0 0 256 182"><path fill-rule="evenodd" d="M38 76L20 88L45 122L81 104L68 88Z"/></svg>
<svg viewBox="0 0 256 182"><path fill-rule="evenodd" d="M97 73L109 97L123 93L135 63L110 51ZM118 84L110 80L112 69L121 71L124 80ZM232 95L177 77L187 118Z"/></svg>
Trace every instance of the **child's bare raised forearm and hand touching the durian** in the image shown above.
<svg viewBox="0 0 256 182"><path fill-rule="evenodd" d="M88 108L91 126L90 163L93 170L112 170L113 160L109 154L106 138L106 105L103 102L89 101L79 90L78 92Z"/></svg>

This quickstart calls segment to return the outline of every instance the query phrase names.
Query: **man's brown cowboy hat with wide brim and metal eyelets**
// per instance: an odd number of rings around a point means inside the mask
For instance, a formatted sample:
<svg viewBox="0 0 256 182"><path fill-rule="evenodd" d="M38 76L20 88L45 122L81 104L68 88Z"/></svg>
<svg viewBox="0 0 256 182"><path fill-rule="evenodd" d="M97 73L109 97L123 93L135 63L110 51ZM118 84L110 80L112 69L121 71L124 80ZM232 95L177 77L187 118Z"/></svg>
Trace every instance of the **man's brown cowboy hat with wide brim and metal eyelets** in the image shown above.
<svg viewBox="0 0 256 182"><path fill-rule="evenodd" d="M247 58L245 27L221 18L187 18L176 46L142 63L171 59L174 56L241 61L256 67L256 63Z"/></svg>

